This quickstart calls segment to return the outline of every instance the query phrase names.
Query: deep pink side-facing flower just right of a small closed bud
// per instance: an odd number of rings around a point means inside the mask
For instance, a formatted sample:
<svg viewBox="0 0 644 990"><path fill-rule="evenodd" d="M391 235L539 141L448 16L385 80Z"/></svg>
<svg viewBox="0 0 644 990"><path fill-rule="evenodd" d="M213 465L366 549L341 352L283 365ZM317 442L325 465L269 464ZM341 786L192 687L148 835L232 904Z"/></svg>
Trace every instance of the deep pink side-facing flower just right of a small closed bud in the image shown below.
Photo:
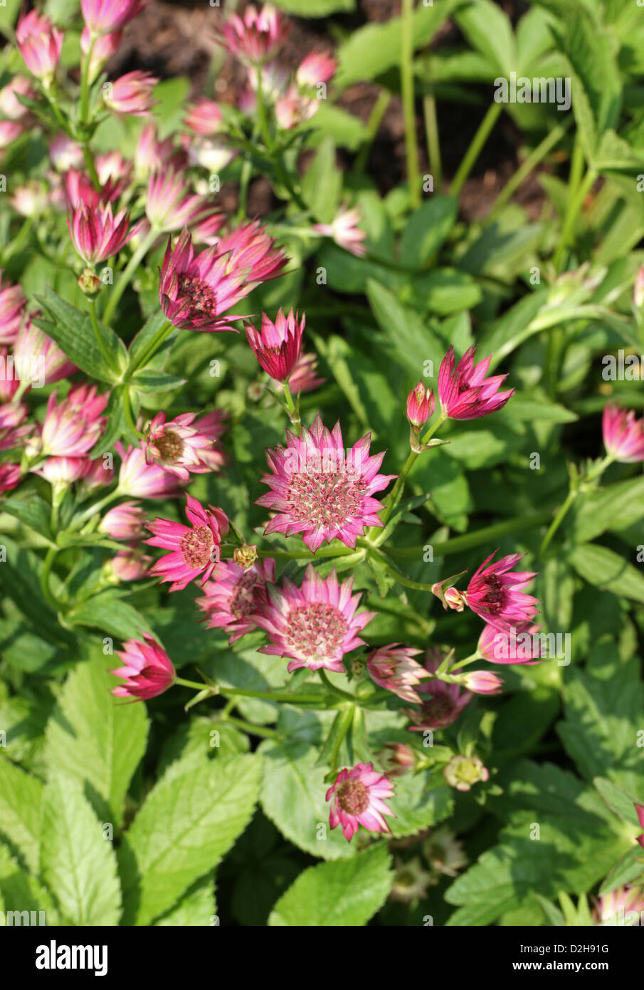
<svg viewBox="0 0 644 990"><path fill-rule="evenodd" d="M449 349L438 372L438 398L445 416L450 420L475 420L488 413L503 409L514 394L510 388L506 392L499 389L506 380L506 374L486 378L492 357L474 365L476 347L469 347L458 364L455 365L454 348Z"/></svg>

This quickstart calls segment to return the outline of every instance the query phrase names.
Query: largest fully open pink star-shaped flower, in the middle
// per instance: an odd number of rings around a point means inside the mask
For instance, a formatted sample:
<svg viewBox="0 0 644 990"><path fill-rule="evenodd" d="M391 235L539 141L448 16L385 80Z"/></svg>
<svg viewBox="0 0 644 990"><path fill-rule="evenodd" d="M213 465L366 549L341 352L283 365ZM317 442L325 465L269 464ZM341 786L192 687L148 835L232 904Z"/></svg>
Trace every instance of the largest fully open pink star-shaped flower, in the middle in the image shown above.
<svg viewBox="0 0 644 990"><path fill-rule="evenodd" d="M344 451L339 422L329 432L320 414L311 430L297 437L286 431L287 446L267 450L272 474L261 481L270 491L256 505L277 513L264 530L302 539L314 552L337 538L355 547L366 527L382 527L382 505L374 492L387 487L395 474L378 474L385 453L369 456L371 434Z"/></svg>

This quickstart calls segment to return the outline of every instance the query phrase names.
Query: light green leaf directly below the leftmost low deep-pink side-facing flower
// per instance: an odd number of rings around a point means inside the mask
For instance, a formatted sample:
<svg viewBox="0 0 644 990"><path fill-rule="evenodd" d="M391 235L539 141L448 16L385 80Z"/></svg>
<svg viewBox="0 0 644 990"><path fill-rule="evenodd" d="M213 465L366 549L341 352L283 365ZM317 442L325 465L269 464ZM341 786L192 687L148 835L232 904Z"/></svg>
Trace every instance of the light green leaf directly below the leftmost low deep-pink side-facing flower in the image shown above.
<svg viewBox="0 0 644 990"><path fill-rule="evenodd" d="M47 723L45 749L49 767L84 784L96 813L115 827L147 738L144 706L118 704L110 694L117 683L102 653L79 663Z"/></svg>

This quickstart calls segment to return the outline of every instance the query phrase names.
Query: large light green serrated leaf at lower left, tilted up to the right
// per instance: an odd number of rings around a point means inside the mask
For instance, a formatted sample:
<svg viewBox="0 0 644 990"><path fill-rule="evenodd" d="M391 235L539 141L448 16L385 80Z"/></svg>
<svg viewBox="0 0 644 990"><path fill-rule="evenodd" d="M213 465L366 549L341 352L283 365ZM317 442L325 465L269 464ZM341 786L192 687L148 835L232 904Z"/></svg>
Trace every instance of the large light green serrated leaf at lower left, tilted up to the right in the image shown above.
<svg viewBox="0 0 644 990"><path fill-rule="evenodd" d="M212 870L257 800L254 755L189 753L150 791L119 850L126 925L148 925Z"/></svg>

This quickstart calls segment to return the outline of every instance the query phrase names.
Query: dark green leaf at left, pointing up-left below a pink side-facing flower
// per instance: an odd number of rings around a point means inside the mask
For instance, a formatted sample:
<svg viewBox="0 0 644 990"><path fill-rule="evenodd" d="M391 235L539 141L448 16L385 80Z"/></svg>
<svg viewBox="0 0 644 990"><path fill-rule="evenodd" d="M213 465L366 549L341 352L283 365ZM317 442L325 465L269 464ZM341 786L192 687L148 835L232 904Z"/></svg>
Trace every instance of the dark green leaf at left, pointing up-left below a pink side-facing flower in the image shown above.
<svg viewBox="0 0 644 990"><path fill-rule="evenodd" d="M109 327L98 324L103 347L99 347L89 313L82 313L60 299L50 288L36 298L51 320L36 320L81 371L99 381L116 382L128 364L128 351L123 341ZM108 360L103 348L110 355ZM118 370L116 370L118 369Z"/></svg>

